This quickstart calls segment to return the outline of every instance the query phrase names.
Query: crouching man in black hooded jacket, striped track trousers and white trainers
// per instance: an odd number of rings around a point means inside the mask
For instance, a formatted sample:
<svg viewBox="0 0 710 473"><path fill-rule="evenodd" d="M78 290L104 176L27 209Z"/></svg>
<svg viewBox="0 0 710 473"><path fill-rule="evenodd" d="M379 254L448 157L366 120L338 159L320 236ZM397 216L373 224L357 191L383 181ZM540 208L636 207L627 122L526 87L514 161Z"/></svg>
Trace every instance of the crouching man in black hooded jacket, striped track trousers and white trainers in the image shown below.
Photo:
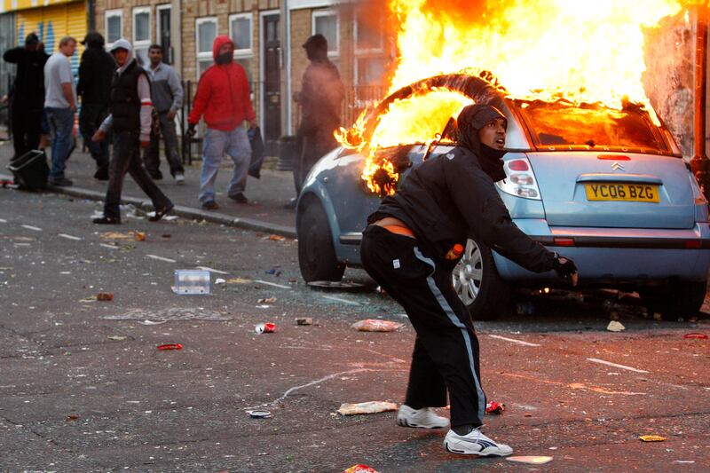
<svg viewBox="0 0 710 473"><path fill-rule="evenodd" d="M452 248L473 238L531 271L555 270L572 284L577 268L517 228L495 189L493 183L506 177L505 116L493 106L472 105L457 124L458 146L412 169L398 192L367 218L360 253L367 272L404 307L416 331L398 425L446 427L446 418L430 407L446 406L448 390L446 450L505 456L513 451L509 445L480 431L485 394L478 341L452 285L460 257Z"/></svg>

